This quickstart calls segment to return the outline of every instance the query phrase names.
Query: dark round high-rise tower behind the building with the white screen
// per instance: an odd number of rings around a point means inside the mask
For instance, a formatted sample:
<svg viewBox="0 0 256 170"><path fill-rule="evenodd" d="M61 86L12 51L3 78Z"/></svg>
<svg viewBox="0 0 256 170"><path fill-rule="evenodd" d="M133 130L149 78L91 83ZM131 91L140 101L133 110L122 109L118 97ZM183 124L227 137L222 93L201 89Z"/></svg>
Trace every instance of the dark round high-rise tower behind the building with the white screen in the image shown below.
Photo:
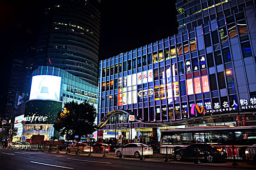
<svg viewBox="0 0 256 170"><path fill-rule="evenodd" d="M45 9L35 68L52 66L97 85L99 0L53 0Z"/></svg>

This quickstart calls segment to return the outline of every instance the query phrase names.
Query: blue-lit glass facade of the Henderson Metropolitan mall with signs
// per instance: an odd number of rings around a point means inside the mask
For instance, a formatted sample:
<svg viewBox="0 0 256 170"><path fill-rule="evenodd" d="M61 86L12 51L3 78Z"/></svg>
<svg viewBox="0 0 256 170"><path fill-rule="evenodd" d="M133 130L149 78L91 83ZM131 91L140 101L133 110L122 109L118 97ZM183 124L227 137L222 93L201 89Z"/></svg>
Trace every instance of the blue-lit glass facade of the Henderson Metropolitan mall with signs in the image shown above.
<svg viewBox="0 0 256 170"><path fill-rule="evenodd" d="M248 19L255 19L249 15L252 11L254 8L248 7L229 13L227 18L220 16L101 60L98 124L117 109L139 120L128 123L128 129L225 122L238 125L237 115L245 115L247 124L255 125L256 55L252 49L256 45L252 43L255 30L249 27L254 23ZM100 130L113 131L123 124L110 121Z"/></svg>

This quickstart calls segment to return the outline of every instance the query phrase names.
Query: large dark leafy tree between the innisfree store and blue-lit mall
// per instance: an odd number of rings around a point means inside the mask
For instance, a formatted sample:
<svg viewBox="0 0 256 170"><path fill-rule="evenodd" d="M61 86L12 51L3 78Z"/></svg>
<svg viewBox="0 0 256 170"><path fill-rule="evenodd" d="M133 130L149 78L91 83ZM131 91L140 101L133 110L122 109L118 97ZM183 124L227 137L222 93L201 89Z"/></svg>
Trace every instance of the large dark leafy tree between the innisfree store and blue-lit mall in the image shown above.
<svg viewBox="0 0 256 170"><path fill-rule="evenodd" d="M58 113L54 128L59 131L60 136L65 134L69 140L75 139L75 135L81 136L92 134L96 131L94 121L97 117L96 108L87 102L67 102L62 112Z"/></svg>

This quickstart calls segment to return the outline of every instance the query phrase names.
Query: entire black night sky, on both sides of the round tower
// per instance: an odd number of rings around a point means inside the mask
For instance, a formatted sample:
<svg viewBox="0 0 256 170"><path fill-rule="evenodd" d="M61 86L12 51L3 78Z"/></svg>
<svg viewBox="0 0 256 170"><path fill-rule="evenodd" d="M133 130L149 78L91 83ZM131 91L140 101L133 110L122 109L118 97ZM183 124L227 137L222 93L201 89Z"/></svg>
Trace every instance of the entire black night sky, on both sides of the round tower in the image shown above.
<svg viewBox="0 0 256 170"><path fill-rule="evenodd" d="M43 0L0 0L2 80L6 93L12 57L35 38ZM101 0L99 59L177 34L176 0Z"/></svg>

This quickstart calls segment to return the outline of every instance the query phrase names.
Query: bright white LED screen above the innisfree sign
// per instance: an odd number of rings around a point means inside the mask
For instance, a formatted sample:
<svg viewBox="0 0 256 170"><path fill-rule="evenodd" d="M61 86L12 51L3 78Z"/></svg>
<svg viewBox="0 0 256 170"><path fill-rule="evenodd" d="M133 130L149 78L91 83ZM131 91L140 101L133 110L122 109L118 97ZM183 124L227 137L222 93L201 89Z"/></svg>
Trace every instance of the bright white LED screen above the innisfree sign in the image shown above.
<svg viewBox="0 0 256 170"><path fill-rule="evenodd" d="M59 101L61 77L38 75L32 77L29 100L45 99Z"/></svg>

